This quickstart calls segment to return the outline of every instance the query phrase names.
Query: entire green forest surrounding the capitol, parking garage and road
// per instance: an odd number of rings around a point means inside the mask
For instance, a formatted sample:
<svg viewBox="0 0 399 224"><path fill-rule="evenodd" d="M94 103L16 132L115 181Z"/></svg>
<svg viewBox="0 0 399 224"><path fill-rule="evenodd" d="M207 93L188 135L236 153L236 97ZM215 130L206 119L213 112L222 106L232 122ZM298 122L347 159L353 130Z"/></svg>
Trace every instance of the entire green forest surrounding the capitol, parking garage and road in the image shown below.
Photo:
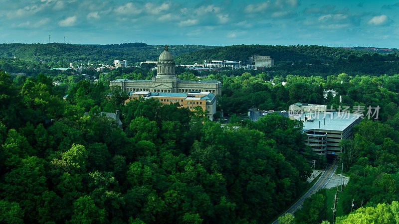
<svg viewBox="0 0 399 224"><path fill-rule="evenodd" d="M224 126L174 104L124 106L127 93L109 88L109 81L151 79L156 73L148 65L79 74L1 58L0 223L272 222L310 187L309 161L317 160L318 168L326 161L305 148L301 122L237 115L248 108L287 110L297 102L381 108L378 119L365 117L340 142L337 161L350 181L340 193L336 223L399 223L397 64L380 58L373 64L388 72L368 74L363 53L350 57L358 67L333 67L331 74L299 73L322 63L201 74L177 67L183 80L222 81L217 110L232 115ZM338 95L324 98L324 90ZM122 128L103 113L115 111ZM328 194L317 192L280 223L332 223Z"/></svg>

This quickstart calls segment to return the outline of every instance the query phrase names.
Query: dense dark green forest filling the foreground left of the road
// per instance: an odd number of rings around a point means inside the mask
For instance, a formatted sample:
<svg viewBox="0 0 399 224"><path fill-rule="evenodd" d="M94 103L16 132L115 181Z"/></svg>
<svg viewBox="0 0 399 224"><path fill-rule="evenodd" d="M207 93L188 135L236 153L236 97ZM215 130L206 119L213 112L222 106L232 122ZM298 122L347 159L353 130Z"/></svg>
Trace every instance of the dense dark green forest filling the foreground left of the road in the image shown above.
<svg viewBox="0 0 399 224"><path fill-rule="evenodd" d="M299 121L223 128L174 104L123 106L101 82L66 101L53 88L0 73L0 222L262 222L306 186ZM120 110L123 130L102 109Z"/></svg>

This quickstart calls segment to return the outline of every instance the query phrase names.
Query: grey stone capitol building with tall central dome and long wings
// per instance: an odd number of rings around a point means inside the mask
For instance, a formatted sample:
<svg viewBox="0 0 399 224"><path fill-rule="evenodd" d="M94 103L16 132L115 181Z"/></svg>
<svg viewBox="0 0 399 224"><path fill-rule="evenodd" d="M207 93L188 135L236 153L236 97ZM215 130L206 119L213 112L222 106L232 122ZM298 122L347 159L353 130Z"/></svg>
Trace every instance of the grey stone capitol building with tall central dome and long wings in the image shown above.
<svg viewBox="0 0 399 224"><path fill-rule="evenodd" d="M111 86L120 86L122 91L135 93L147 91L152 93L190 93L209 92L221 96L221 82L217 80L184 81L175 74L176 64L168 45L159 56L157 76L152 80L116 79Z"/></svg>

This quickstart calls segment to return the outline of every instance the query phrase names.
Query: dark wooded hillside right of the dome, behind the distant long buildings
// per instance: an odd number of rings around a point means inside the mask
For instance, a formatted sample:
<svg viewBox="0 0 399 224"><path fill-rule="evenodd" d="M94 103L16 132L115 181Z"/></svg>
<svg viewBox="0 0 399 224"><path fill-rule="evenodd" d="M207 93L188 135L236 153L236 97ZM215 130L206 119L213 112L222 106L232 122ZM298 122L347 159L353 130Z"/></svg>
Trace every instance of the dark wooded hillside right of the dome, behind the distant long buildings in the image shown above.
<svg viewBox="0 0 399 224"><path fill-rule="evenodd" d="M317 45L295 45L295 46L271 46L271 45L232 45L216 47L200 51L189 52L176 57L176 63L193 64L202 63L203 60L235 60L243 63L252 55L271 56L275 64L282 61L309 61L312 59L329 62L336 59L348 59L350 55L361 57L364 54L372 55L372 52L325 47Z"/></svg>

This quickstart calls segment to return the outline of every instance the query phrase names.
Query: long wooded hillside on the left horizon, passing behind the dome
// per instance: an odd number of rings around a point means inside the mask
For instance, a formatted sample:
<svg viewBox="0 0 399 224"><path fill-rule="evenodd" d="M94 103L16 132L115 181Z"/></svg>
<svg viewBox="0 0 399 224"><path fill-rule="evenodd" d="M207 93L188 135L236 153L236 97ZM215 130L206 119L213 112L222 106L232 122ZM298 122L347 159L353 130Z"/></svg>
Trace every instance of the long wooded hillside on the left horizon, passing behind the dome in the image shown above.
<svg viewBox="0 0 399 224"><path fill-rule="evenodd" d="M58 63L86 62L112 64L114 60L126 59L130 63L156 60L162 52L163 45L147 45L146 43L124 43L109 45L81 44L0 44L0 57L20 58L28 61L46 61ZM174 55L180 55L213 46L204 45L171 45L169 49ZM59 63L58 63L59 64Z"/></svg>

